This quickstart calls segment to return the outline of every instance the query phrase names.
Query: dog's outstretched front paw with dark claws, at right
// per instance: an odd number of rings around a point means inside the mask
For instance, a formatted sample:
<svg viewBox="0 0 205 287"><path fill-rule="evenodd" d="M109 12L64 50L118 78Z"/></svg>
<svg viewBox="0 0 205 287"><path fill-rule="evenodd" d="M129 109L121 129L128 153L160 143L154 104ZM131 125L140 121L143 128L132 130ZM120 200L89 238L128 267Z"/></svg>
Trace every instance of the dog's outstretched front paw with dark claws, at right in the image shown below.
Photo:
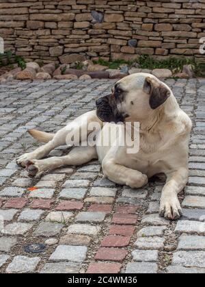
<svg viewBox="0 0 205 287"><path fill-rule="evenodd" d="M172 194L161 197L159 215L165 217L165 219L176 220L180 218L182 208L177 195Z"/></svg>

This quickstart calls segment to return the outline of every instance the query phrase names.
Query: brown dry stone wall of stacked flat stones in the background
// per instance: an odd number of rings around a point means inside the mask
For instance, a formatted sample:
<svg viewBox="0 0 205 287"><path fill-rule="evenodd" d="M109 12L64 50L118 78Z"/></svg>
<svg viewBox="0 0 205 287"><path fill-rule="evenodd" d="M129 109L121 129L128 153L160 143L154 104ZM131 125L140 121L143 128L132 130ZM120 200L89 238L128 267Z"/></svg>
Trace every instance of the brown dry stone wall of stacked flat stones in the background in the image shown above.
<svg viewBox="0 0 205 287"><path fill-rule="evenodd" d="M5 49L61 64L139 54L195 56L205 37L205 0L0 0Z"/></svg>

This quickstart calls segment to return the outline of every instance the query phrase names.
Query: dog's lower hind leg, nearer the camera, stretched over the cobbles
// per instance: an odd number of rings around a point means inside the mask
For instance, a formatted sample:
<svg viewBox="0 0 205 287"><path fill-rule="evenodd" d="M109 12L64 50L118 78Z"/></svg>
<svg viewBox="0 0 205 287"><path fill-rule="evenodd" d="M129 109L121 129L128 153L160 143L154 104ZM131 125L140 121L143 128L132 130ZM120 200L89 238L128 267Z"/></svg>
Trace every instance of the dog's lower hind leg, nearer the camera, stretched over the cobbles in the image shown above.
<svg viewBox="0 0 205 287"><path fill-rule="evenodd" d="M95 147L74 147L68 155L61 157L45 158L44 160L29 160L27 162L27 171L29 175L35 176L37 173L49 169L57 169L64 165L85 164L94 158L98 158Z"/></svg>

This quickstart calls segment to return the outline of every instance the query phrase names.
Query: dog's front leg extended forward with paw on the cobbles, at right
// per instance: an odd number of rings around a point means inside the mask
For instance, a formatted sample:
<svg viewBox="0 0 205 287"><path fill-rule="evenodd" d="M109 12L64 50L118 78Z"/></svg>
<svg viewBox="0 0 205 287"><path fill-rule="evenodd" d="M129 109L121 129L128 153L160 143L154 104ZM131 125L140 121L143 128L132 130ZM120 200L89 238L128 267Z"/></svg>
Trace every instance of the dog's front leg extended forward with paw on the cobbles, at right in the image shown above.
<svg viewBox="0 0 205 287"><path fill-rule="evenodd" d="M177 195L187 184L188 174L188 169L184 167L167 174L167 182L162 190L159 208L159 214L166 219L175 220L182 215Z"/></svg>

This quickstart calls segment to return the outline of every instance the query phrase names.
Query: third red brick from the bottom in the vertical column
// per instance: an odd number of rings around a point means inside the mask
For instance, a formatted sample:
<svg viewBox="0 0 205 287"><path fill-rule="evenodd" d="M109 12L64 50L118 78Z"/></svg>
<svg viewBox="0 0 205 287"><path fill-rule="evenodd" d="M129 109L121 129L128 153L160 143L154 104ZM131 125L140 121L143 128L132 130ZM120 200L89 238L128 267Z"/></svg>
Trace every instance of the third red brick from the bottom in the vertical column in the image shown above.
<svg viewBox="0 0 205 287"><path fill-rule="evenodd" d="M130 240L131 240L131 236L109 235L109 236L106 236L102 240L101 246L104 246L104 247L125 247L125 246L128 246Z"/></svg>

